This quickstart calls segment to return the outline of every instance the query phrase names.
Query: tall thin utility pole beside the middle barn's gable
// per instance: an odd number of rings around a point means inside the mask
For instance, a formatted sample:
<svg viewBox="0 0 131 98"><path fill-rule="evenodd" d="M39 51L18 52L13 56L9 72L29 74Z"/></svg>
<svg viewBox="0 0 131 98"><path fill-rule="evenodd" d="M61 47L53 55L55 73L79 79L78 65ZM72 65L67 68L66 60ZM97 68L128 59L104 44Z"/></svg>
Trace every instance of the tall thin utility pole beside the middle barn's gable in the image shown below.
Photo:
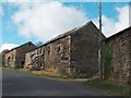
<svg viewBox="0 0 131 98"><path fill-rule="evenodd" d="M99 15L99 48L98 48L98 77L102 77L102 2L98 0L98 15Z"/></svg>

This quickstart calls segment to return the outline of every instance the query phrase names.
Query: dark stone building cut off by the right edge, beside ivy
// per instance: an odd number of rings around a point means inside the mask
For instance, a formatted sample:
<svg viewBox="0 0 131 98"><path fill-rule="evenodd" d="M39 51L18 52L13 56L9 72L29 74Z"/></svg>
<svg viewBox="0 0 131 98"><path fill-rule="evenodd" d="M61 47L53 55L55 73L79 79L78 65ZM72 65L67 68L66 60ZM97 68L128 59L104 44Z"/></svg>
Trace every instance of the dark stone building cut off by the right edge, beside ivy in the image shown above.
<svg viewBox="0 0 131 98"><path fill-rule="evenodd" d="M123 84L129 83L131 66L131 27L110 36L105 40L105 44L106 47L110 48L111 53L109 81Z"/></svg>

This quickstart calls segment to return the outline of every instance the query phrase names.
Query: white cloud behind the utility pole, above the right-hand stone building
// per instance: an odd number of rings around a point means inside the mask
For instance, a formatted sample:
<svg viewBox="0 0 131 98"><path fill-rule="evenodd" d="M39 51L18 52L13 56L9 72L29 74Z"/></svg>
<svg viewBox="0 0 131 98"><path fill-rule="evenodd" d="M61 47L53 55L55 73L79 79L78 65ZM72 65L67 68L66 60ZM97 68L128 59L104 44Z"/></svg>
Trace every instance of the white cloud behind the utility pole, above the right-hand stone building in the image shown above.
<svg viewBox="0 0 131 98"><path fill-rule="evenodd" d="M118 13L118 21L112 20L111 17L107 17L103 15L103 33L109 37L127 27L129 27L129 5L124 5L121 8L116 8ZM98 19L93 19L94 23L98 27Z"/></svg>

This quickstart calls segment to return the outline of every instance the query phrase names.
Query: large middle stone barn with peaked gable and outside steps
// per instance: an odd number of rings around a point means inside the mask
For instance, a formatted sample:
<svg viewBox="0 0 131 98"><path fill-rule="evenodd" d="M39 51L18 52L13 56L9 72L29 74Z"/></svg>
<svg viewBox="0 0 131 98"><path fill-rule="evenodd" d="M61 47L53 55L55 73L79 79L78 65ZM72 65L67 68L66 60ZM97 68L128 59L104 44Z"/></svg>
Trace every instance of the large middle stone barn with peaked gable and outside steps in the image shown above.
<svg viewBox="0 0 131 98"><path fill-rule="evenodd" d="M98 70L98 28L88 22L27 52L25 66L94 75ZM105 39L103 34L100 37Z"/></svg>

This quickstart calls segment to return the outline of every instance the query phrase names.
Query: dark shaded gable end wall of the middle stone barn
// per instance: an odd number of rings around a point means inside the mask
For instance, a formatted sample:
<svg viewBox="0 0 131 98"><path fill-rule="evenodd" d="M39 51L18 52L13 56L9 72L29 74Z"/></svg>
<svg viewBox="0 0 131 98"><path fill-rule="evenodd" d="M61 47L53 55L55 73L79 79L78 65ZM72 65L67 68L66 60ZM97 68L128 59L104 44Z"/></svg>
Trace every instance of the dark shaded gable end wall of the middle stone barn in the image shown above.
<svg viewBox="0 0 131 98"><path fill-rule="evenodd" d="M78 74L87 76L96 75L98 72L98 47L99 32L91 23L78 30L71 36L71 68ZM105 36L100 35L102 40Z"/></svg>

